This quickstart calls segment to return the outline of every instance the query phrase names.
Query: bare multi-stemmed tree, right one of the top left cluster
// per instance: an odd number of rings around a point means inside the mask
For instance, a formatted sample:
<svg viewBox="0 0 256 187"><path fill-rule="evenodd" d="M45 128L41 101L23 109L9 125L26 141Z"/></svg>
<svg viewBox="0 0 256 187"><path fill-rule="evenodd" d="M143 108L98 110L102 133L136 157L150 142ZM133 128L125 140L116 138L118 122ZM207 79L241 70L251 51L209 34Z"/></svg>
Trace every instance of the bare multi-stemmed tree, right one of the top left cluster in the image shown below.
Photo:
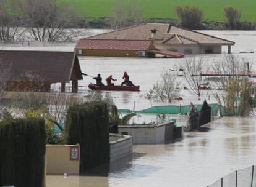
<svg viewBox="0 0 256 187"><path fill-rule="evenodd" d="M67 41L80 36L78 30L67 26L79 22L80 17L72 4L56 0L25 0L23 10L27 25L35 41Z"/></svg>

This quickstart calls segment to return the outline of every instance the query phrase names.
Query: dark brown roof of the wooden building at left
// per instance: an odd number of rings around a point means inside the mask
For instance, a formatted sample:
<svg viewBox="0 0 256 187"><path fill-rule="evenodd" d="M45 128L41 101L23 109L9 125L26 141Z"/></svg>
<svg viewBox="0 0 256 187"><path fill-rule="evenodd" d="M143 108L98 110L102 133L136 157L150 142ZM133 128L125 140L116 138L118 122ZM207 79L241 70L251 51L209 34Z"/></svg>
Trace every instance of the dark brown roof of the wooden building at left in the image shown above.
<svg viewBox="0 0 256 187"><path fill-rule="evenodd" d="M0 64L9 71L8 81L31 81L33 76L41 82L83 79L75 52L0 50Z"/></svg>

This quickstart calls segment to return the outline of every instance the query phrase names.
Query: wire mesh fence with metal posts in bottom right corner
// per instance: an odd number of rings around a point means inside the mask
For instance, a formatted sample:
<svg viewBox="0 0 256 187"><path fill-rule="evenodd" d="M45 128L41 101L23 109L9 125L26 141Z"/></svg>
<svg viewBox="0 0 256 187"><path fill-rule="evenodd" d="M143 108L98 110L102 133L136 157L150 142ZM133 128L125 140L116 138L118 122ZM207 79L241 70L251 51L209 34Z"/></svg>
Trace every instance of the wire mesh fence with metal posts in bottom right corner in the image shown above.
<svg viewBox="0 0 256 187"><path fill-rule="evenodd" d="M255 166L230 173L207 187L256 187Z"/></svg>

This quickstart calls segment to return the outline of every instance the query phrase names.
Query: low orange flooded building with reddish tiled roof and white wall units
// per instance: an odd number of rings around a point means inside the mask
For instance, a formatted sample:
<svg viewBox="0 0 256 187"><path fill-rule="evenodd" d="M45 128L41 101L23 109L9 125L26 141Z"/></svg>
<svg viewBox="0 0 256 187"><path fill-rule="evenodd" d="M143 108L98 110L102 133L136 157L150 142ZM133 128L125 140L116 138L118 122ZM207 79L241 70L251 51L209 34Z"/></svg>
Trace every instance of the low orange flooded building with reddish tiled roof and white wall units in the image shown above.
<svg viewBox="0 0 256 187"><path fill-rule="evenodd" d="M103 57L155 57L156 54L182 58L184 54L178 52L156 49L150 39L80 39L75 51L83 56Z"/></svg>

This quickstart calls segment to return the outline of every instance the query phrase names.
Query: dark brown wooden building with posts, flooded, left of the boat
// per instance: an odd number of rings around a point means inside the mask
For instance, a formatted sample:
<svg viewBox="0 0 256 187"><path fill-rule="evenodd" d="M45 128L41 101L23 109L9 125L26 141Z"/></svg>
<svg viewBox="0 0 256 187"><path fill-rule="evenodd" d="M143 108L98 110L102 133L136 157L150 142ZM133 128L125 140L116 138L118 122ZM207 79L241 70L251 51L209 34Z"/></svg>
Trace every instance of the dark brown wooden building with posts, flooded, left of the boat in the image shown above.
<svg viewBox="0 0 256 187"><path fill-rule="evenodd" d="M75 52L0 50L1 68L6 70L7 91L49 92L51 84L72 82L72 92L83 79Z"/></svg>

